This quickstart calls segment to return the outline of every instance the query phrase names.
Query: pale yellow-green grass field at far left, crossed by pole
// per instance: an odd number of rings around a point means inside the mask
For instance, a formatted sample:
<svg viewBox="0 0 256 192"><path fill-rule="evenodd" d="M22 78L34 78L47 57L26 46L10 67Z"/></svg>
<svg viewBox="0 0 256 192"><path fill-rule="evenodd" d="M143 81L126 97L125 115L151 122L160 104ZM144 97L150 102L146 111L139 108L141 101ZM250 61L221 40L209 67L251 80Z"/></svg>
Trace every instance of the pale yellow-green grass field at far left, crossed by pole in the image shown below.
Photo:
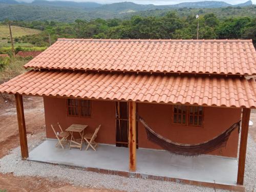
<svg viewBox="0 0 256 192"><path fill-rule="evenodd" d="M38 34L41 31L37 29L29 29L25 27L11 26L13 37L22 37L25 35ZM10 31L8 25L0 25L0 38L10 37Z"/></svg>

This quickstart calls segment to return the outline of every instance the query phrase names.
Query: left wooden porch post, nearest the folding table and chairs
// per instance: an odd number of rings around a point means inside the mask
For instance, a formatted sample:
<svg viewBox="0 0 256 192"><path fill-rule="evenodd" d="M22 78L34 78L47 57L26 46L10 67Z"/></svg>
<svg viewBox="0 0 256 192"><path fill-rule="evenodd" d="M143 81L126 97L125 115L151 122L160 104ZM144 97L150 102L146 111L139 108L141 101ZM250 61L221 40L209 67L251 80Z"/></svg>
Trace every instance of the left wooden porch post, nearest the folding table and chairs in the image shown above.
<svg viewBox="0 0 256 192"><path fill-rule="evenodd" d="M22 95L15 94L17 119L18 119L18 132L20 141L20 150L22 151L22 159L29 157L28 143L27 143L27 132L24 118L23 99Z"/></svg>

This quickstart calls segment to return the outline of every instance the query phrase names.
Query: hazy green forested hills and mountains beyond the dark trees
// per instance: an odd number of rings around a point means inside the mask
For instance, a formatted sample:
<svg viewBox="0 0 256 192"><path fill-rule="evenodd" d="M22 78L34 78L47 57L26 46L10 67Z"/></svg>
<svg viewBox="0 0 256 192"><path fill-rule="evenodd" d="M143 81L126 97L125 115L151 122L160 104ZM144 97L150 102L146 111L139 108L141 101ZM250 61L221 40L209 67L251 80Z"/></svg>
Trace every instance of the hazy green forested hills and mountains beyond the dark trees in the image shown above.
<svg viewBox="0 0 256 192"><path fill-rule="evenodd" d="M224 2L197 2L177 5L139 5L131 2L100 5L95 3L47 2L37 0L33 3L1 3L0 20L54 20L57 22L74 22L76 19L125 18L134 15L163 16L169 11L176 11L179 16L191 14L215 13L218 18L231 16L256 15L256 6L251 2L230 6ZM212 8L214 7L214 8ZM218 8L216 8L218 7Z"/></svg>

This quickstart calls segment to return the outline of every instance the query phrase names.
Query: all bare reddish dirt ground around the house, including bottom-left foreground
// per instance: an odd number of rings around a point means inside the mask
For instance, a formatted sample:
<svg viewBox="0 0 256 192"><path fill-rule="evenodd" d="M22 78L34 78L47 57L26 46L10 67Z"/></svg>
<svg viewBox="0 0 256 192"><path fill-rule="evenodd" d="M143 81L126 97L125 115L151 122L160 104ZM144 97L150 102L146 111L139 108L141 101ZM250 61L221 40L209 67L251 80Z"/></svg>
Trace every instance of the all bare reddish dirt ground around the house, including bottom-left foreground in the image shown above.
<svg viewBox="0 0 256 192"><path fill-rule="evenodd" d="M44 104L41 97L24 97L24 111L28 141L35 133L45 132ZM256 111L251 113L249 133L256 141ZM254 129L253 129L254 128ZM0 95L0 158L19 145L17 117L14 97ZM72 186L69 183L48 180L39 177L15 177L12 174L0 174L0 189L7 191L52 191L52 192L107 192L113 190L88 189Z"/></svg>

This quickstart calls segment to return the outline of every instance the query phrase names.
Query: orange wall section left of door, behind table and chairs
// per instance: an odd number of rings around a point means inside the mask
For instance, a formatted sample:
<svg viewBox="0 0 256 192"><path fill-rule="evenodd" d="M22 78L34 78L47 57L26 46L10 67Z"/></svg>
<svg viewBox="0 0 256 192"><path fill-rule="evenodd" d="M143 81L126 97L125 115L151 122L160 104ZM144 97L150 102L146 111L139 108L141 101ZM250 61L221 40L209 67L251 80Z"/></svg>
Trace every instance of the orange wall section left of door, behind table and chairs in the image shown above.
<svg viewBox="0 0 256 192"><path fill-rule="evenodd" d="M100 143L116 144L115 102L92 101L91 117L69 117L67 116L66 99L44 97L46 137L56 138L51 124L56 127L60 123L62 129L67 129L71 124L87 124L87 131L94 131L101 124L97 134Z"/></svg>

